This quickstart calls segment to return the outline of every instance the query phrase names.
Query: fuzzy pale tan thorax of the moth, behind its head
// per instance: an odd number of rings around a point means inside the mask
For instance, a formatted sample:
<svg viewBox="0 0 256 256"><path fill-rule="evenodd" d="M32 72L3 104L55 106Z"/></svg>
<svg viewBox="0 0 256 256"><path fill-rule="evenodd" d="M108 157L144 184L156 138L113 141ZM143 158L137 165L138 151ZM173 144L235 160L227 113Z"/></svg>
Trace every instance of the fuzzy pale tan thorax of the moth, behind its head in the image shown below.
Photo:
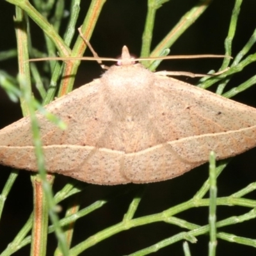
<svg viewBox="0 0 256 256"><path fill-rule="evenodd" d="M102 81L109 106L121 115L143 114L152 100L154 76L140 64L113 66Z"/></svg>

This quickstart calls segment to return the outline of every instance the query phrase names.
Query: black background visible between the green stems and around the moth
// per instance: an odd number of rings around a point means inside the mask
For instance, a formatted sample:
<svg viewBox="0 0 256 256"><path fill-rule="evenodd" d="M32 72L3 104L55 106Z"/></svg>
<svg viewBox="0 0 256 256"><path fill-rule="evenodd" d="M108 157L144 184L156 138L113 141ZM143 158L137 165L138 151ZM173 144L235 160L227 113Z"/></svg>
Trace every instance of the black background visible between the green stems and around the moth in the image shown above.
<svg viewBox="0 0 256 256"><path fill-rule="evenodd" d="M87 11L90 1L82 1L81 4L81 19L77 27L82 23L83 17ZM198 1L192 0L172 0L157 12L156 26L154 28L154 38L152 49L158 44L170 28L175 26L180 17L188 12L192 6ZM67 1L67 8L69 1ZM227 36L230 15L234 1L215 0L205 11L205 13L196 20L184 35L180 36L179 40L173 45L171 54L223 54L223 42ZM256 24L256 2L253 0L244 1L241 6L241 14L239 15L236 36L232 47L232 56L236 56L243 45L248 41L255 29ZM104 5L99 22L93 32L91 44L99 56L115 57L120 54L123 45L127 45L129 50L140 55L141 36L147 13L147 1L145 0L108 0ZM15 8L12 4L0 1L0 51L8 50L16 47L15 31L13 29L13 16ZM40 49L44 49L42 40L42 31L31 22L32 35L35 38L35 45ZM64 31L64 28L63 28ZM253 47L251 53L255 52ZM86 54L89 54L86 52ZM181 70L195 73L206 73L211 69L220 67L221 60L177 60L166 61L159 67L159 70ZM17 74L17 60L8 60L0 62L0 68L7 70L14 76ZM237 74L229 84L230 88L246 81L249 77L255 74L255 65L246 67L241 74ZM102 74L99 65L92 62L84 62L79 68L77 74L76 86L88 83L93 78L99 77ZM182 78L189 83L196 83L196 80ZM212 88L211 90L214 90ZM234 99L256 106L255 88L250 88L246 92L240 93ZM11 102L6 93L0 92L0 127L11 124L15 120L22 117L19 104ZM240 156L235 157L225 169L218 179L218 196L228 196L237 190L244 188L247 184L256 179L256 162L255 150L250 150ZM0 171L0 190L10 173L10 168L1 166ZM202 186L207 179L208 167L207 164L196 168L192 172L186 173L181 177L173 180L166 180L156 184L149 184L145 196L141 201L138 212L135 217L154 214L168 209L173 205L189 200L196 191ZM58 176L54 189L58 189L67 182L67 177ZM104 205L101 209L89 214L77 221L73 244L77 244L86 237L92 236L95 232L109 227L122 220L129 202L136 193L136 189L140 189L143 185L126 185L126 186L96 186L88 185L86 191L81 195L82 205L86 205L100 200L109 193L118 193L131 187L130 193L120 196L112 200L109 204ZM255 193L246 195L247 198L255 198ZM63 207L66 202L61 203ZM20 172L19 178L15 182L13 189L8 196L6 205L3 211L3 217L0 222L0 252L6 248L15 234L24 225L32 211L32 189L29 180L28 172ZM218 220L223 220L228 216L235 216L247 212L249 209L242 207L218 207ZM207 224L208 218L207 207L191 209L178 217L185 220L197 223L198 225ZM230 227L220 228L219 231L230 232L237 236L250 237L255 239L256 221L250 220L244 223L239 223ZM122 232L116 236L106 239L100 244L93 246L82 255L128 255L136 252L147 246L150 246L157 241L161 241L166 237L173 236L182 229L167 223L153 223L144 225L138 228L132 228ZM185 230L184 230L185 231ZM192 255L207 255L208 236L197 237L196 244L189 244ZM52 248L56 245L54 235L49 236L49 253L52 255ZM217 255L255 255L255 248L244 246L236 243L228 243L218 239ZM182 242L167 246L154 255L184 255L182 252ZM29 255L29 246L15 253L15 255Z"/></svg>

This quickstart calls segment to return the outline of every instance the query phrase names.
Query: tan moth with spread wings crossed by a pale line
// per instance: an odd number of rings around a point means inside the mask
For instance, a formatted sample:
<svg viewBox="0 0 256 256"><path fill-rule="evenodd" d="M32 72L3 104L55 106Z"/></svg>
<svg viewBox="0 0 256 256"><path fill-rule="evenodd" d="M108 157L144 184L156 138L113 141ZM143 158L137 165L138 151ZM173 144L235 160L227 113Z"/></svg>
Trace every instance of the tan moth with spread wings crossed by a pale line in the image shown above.
<svg viewBox="0 0 256 256"><path fill-rule="evenodd" d="M45 107L61 131L37 114L47 172L94 184L172 179L256 146L256 109L133 64L122 65ZM0 163L36 171L29 117L0 131Z"/></svg>

